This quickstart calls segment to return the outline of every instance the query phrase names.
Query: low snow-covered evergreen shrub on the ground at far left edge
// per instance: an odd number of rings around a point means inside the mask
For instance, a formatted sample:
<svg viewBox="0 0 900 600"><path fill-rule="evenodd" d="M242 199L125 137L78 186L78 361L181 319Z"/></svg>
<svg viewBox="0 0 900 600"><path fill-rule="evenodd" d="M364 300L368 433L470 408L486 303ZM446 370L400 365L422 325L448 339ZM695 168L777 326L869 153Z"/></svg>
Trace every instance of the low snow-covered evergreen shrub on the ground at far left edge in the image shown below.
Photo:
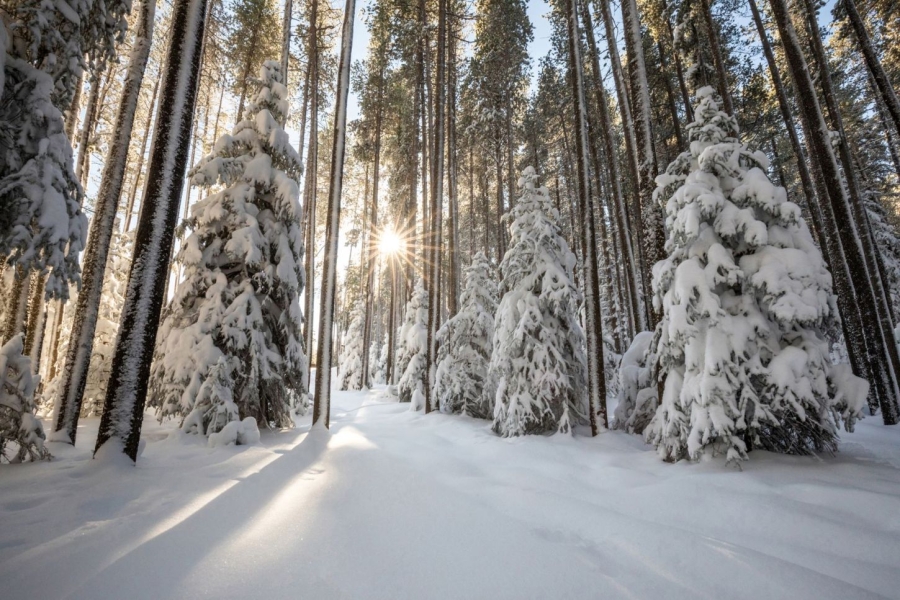
<svg viewBox="0 0 900 600"><path fill-rule="evenodd" d="M22 334L0 348L0 458L7 462L50 458L44 428L34 415L38 378L22 349Z"/></svg>

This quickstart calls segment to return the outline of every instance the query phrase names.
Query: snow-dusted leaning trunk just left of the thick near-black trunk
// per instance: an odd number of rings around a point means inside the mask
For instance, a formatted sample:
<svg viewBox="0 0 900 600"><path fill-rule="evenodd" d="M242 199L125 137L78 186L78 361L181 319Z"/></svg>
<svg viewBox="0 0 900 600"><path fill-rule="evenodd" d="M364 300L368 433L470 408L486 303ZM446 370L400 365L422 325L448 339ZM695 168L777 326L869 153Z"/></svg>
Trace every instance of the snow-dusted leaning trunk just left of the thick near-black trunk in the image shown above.
<svg viewBox="0 0 900 600"><path fill-rule="evenodd" d="M141 94L144 69L150 56L155 16L156 0L144 0L138 13L134 45L122 85L119 109L116 113L115 128L113 129L115 138L110 144L109 155L103 167L100 193L97 197L94 218L91 220L91 231L88 236L88 246L84 254L84 268L81 274L82 288L75 303L75 316L66 352L58 403L59 411L55 425L55 431L62 432L71 444L75 443L75 434L78 430L78 416L84 398L84 387L87 383L91 351L94 347L94 334L100 313L103 276L106 273L106 260L109 256L109 244L115 228L116 209L125 179L134 113Z"/></svg>

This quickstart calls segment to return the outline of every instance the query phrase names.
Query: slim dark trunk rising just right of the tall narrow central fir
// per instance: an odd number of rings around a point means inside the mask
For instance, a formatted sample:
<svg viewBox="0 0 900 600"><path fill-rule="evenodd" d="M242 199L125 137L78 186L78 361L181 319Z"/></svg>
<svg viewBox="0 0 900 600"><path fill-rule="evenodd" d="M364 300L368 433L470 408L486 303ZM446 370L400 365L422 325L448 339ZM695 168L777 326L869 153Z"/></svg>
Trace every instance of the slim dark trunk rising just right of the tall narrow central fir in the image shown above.
<svg viewBox="0 0 900 600"><path fill-rule="evenodd" d="M603 372L603 326L600 314L600 288L597 282L597 234L594 224L594 200L591 196L590 165L588 163L587 103L584 96L584 72L581 60L581 33L578 28L578 4L566 0L569 28L569 70L572 80L572 99L575 104L575 136L578 172L579 215L581 217L584 248L584 310L587 342L588 406L591 434L609 426L606 416L606 381Z"/></svg>

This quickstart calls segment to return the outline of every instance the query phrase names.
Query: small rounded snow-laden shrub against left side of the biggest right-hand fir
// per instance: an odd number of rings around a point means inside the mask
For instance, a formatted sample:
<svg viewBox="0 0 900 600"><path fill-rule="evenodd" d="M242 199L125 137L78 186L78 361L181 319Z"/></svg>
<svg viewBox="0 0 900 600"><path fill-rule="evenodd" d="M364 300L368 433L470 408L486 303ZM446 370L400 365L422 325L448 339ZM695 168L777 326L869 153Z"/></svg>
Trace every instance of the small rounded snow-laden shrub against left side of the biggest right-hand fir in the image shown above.
<svg viewBox="0 0 900 600"><path fill-rule="evenodd" d="M634 336L631 346L622 356L614 429L643 433L656 412L659 401L656 386L653 385L653 369L648 364L653 341L653 332L642 331Z"/></svg>

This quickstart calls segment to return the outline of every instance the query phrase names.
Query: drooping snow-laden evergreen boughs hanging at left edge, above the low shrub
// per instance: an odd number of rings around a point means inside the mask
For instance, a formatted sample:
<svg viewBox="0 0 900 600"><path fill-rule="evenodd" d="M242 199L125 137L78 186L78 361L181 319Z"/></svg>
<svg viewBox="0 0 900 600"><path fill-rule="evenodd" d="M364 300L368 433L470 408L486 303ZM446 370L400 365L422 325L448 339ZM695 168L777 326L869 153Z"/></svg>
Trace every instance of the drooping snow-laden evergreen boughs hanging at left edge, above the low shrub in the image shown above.
<svg viewBox="0 0 900 600"><path fill-rule="evenodd" d="M2 24L0 24L2 27ZM66 298L78 283L87 219L72 170L62 114L50 101L53 80L6 56L0 96L0 256L8 269L47 276L48 296Z"/></svg>

